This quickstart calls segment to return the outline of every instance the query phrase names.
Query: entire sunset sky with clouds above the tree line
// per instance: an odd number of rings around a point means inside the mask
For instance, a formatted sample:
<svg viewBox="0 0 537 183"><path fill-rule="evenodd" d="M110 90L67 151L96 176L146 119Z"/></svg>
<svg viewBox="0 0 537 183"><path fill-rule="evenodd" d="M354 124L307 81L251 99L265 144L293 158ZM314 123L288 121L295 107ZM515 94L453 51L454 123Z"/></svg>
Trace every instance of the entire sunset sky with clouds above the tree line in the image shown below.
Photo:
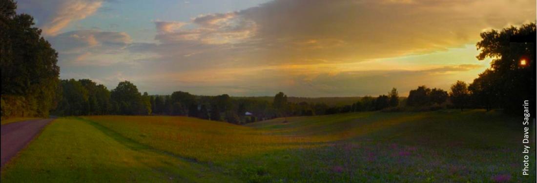
<svg viewBox="0 0 537 183"><path fill-rule="evenodd" d="M296 97L448 90L489 67L480 33L535 21L521 0L20 0L60 78L141 92Z"/></svg>

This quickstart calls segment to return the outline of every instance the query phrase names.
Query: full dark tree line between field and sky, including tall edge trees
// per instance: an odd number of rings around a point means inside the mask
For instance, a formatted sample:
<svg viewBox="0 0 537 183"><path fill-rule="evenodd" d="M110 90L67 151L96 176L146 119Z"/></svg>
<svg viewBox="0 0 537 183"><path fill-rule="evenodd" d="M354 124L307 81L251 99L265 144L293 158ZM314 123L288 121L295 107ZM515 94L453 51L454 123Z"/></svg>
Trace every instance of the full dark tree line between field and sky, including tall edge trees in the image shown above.
<svg viewBox="0 0 537 183"><path fill-rule="evenodd" d="M442 108L503 109L520 114L524 100L535 104L535 23L481 33L478 60L491 67L473 83L456 81L450 91L418 86L407 98L397 89L378 97L297 98L194 96L177 91L165 96L141 93L128 81L113 90L89 79L60 80L56 51L33 27L33 18L17 14L16 3L0 1L2 119L54 115L185 115L249 123L277 117L359 111L431 111ZM246 113L248 112L248 113Z"/></svg>

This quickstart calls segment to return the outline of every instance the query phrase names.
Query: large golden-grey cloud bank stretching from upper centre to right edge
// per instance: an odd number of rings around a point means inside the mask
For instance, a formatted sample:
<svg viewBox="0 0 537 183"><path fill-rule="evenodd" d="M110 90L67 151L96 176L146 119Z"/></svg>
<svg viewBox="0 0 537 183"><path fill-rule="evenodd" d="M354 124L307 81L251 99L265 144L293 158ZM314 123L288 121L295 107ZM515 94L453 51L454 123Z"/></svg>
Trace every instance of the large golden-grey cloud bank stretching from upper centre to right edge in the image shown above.
<svg viewBox="0 0 537 183"><path fill-rule="evenodd" d="M361 62L475 43L485 28L533 20L534 5L532 1L277 0L241 11L203 14L188 23L156 22L155 40L162 44L154 51L163 60L216 57L222 58L220 63L234 62L228 65Z"/></svg>

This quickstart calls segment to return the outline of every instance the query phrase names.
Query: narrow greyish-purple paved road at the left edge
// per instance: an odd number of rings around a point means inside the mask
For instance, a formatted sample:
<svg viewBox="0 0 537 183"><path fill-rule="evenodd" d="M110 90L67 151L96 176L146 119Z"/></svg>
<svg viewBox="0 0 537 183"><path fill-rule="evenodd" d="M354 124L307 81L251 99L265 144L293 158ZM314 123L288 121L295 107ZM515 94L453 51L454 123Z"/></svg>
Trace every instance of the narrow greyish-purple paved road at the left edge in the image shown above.
<svg viewBox="0 0 537 183"><path fill-rule="evenodd" d="M28 142L39 134L43 127L53 120L54 118L27 120L2 125L1 167L4 167L6 162L17 155L17 152L22 150Z"/></svg>

